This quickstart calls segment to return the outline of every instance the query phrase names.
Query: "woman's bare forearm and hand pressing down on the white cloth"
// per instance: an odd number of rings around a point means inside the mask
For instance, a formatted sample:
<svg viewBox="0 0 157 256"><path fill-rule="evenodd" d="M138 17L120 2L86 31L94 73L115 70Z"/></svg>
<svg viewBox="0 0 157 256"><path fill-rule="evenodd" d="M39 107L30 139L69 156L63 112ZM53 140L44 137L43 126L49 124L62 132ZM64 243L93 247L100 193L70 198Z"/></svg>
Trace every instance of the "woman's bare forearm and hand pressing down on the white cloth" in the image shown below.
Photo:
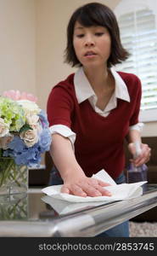
<svg viewBox="0 0 157 256"><path fill-rule="evenodd" d="M109 186L93 177L86 177L81 166L76 161L74 150L68 138L59 134L53 134L52 146L50 152L53 162L64 180L61 192L71 195L101 196L111 195L109 191L103 189Z"/></svg>

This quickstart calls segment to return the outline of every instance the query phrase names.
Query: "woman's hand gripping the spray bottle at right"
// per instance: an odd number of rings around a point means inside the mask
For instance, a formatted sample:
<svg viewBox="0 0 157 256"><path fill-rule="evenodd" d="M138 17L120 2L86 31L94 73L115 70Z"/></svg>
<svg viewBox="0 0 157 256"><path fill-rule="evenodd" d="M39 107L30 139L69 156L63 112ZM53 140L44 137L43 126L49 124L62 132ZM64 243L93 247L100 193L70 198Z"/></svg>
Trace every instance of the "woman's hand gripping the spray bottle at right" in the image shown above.
<svg viewBox="0 0 157 256"><path fill-rule="evenodd" d="M132 155L136 154L134 143L129 143L128 149ZM135 159L131 159L131 161L135 166L141 166L149 161L150 155L151 155L151 148L149 148L149 145L141 143L141 153L138 154Z"/></svg>

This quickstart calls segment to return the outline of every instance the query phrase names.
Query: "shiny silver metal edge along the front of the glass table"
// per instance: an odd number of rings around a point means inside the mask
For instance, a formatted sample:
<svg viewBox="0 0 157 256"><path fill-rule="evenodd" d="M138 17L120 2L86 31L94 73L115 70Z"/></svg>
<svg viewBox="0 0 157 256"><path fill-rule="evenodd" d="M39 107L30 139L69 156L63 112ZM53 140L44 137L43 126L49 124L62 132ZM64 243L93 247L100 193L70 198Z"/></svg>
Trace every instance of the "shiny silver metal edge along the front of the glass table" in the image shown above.
<svg viewBox="0 0 157 256"><path fill-rule="evenodd" d="M92 207L63 217L2 220L0 236L96 236L156 206L157 189L132 200Z"/></svg>

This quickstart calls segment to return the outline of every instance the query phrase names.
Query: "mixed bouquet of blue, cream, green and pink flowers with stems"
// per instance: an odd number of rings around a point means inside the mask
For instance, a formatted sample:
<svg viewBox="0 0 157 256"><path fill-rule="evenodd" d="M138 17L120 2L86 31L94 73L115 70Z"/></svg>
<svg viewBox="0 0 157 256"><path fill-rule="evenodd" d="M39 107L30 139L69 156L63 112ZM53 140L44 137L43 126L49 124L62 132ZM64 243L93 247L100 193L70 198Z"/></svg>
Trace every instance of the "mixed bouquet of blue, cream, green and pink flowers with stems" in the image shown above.
<svg viewBox="0 0 157 256"><path fill-rule="evenodd" d="M50 144L47 114L36 105L36 97L5 91L0 96L0 195L20 187L21 166L39 165Z"/></svg>

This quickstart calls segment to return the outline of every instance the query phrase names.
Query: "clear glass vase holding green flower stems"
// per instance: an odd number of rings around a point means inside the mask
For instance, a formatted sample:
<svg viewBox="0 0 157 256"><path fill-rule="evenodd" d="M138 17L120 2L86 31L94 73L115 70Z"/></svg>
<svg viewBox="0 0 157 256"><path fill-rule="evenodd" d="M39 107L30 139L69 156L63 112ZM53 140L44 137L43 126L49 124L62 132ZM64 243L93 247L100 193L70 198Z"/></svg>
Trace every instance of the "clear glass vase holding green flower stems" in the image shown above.
<svg viewBox="0 0 157 256"><path fill-rule="evenodd" d="M0 201L21 195L28 189L28 167L18 166L13 158L0 157Z"/></svg>

